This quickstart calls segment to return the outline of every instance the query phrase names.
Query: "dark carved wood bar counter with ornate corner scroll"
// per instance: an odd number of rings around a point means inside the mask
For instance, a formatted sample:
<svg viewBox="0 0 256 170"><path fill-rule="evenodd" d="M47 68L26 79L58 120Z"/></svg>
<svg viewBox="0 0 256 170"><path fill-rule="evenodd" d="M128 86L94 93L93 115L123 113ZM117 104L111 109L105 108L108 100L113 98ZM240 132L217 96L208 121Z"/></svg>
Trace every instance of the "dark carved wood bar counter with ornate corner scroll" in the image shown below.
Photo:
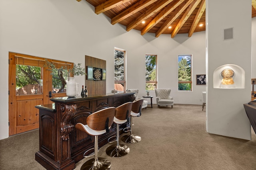
<svg viewBox="0 0 256 170"><path fill-rule="evenodd" d="M118 107L134 101L134 92L88 96L82 98L52 98L54 104L39 105L40 149L35 159L48 170L72 170L84 158L86 150L94 147L94 137L74 128L76 123L86 124L91 113L106 107ZM120 133L126 124L120 126ZM110 133L98 137L99 147L108 143L116 133L113 124Z"/></svg>

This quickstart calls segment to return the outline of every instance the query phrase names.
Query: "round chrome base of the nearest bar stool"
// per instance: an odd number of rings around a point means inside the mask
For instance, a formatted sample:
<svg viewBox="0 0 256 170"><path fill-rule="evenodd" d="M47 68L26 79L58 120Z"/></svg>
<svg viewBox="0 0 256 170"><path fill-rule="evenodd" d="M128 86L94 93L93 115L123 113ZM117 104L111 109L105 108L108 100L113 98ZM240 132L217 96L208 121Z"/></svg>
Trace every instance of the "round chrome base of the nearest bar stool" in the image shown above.
<svg viewBox="0 0 256 170"><path fill-rule="evenodd" d="M81 170L110 170L110 167L111 163L106 158L98 158L98 161L92 158L82 165Z"/></svg>

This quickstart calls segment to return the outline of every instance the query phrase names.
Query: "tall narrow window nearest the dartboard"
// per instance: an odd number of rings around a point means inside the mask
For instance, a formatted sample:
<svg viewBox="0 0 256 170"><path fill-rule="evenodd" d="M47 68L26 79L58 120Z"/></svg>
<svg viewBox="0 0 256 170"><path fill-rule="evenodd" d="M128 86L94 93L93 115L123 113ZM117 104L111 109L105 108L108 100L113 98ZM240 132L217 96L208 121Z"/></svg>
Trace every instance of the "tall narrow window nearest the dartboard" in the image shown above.
<svg viewBox="0 0 256 170"><path fill-rule="evenodd" d="M115 90L122 91L126 89L126 78L125 78L125 51L115 48Z"/></svg>

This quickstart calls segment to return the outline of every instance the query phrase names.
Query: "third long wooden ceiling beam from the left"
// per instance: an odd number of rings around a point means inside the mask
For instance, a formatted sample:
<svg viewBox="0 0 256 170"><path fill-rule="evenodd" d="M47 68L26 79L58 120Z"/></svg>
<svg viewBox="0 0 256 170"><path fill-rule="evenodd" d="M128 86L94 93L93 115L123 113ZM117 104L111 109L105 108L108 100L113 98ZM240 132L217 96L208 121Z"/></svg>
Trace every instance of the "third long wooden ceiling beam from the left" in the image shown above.
<svg viewBox="0 0 256 170"><path fill-rule="evenodd" d="M170 2L173 0L160 0L155 6L152 6L149 10L144 12L140 17L136 18L133 22L131 22L129 25L126 27L126 31L130 31L134 27L136 27L138 24L142 22L142 20L146 20L148 17L152 16L154 13L158 12L164 6L168 5Z"/></svg>

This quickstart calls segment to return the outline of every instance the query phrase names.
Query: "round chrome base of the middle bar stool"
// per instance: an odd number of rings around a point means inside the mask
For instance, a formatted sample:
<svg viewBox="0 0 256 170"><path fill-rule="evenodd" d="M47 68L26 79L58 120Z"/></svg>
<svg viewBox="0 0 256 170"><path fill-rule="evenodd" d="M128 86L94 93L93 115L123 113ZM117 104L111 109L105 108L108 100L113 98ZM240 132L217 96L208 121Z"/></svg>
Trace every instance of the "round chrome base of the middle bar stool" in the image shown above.
<svg viewBox="0 0 256 170"><path fill-rule="evenodd" d="M120 158L127 155L130 152L130 148L126 145L111 145L106 149L106 154L113 158Z"/></svg>

